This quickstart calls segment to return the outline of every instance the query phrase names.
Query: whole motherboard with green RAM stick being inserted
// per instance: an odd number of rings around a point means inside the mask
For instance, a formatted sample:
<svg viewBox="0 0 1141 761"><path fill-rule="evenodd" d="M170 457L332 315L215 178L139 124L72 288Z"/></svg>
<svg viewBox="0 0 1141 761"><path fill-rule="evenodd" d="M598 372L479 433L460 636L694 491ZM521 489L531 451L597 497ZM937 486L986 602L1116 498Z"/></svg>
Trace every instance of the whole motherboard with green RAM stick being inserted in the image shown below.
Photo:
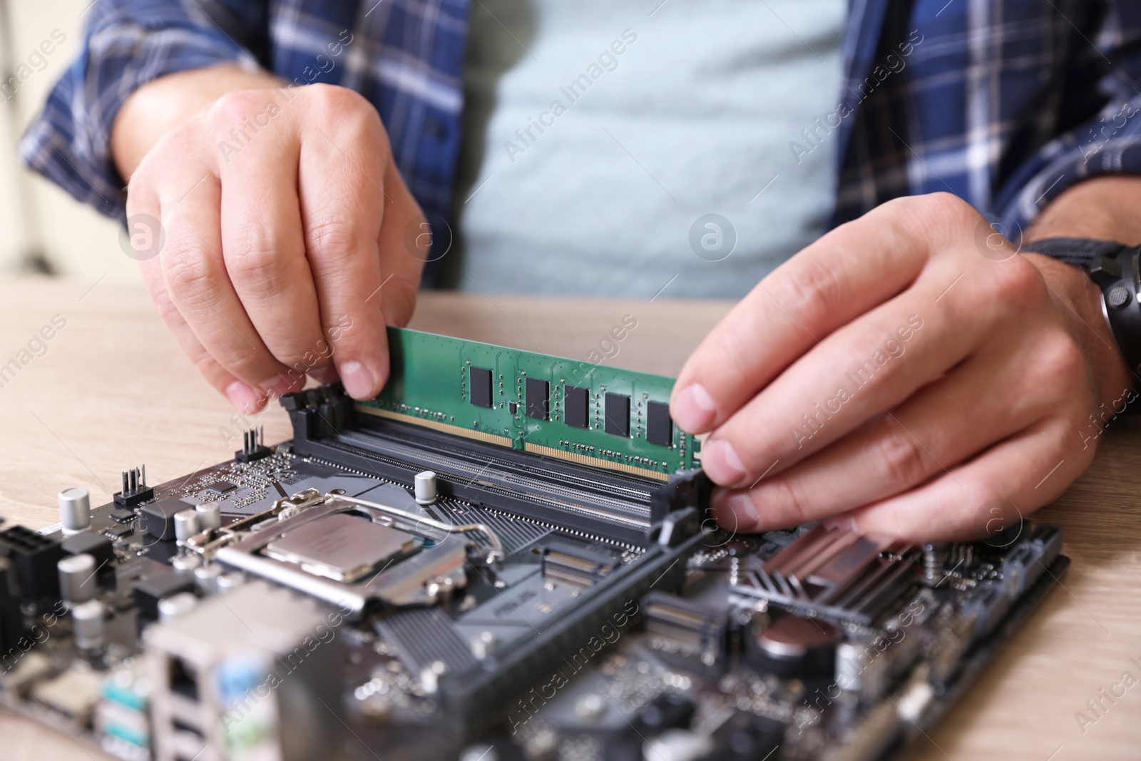
<svg viewBox="0 0 1141 761"><path fill-rule="evenodd" d="M0 701L124 761L903 758L1061 531L719 528L673 381L398 329L391 379L0 531Z"/></svg>

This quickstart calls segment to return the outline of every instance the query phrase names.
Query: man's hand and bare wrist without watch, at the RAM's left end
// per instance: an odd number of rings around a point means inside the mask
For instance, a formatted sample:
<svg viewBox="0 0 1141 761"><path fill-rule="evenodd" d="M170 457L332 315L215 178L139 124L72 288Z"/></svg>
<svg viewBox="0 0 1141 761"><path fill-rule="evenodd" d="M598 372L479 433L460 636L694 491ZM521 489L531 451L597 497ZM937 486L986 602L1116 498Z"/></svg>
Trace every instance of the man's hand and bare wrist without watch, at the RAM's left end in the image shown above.
<svg viewBox="0 0 1141 761"><path fill-rule="evenodd" d="M423 217L369 102L184 72L127 102L113 146L130 177L128 233L146 214L164 234L157 256L139 256L147 289L215 388L243 412L306 374L339 375L358 399L380 391L385 323L412 316L426 256L405 242Z"/></svg>

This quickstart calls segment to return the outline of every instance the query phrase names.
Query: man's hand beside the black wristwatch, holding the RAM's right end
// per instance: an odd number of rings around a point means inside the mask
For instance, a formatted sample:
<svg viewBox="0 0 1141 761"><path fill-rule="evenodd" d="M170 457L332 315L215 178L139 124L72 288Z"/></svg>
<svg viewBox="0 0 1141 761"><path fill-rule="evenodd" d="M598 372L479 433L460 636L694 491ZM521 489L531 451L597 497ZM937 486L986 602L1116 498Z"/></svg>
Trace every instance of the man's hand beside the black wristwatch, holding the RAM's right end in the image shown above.
<svg viewBox="0 0 1141 761"><path fill-rule="evenodd" d="M727 528L977 539L987 505L1028 515L1082 473L1131 381L1084 273L1017 253L934 194L885 203L761 281L689 358L671 410L710 431Z"/></svg>

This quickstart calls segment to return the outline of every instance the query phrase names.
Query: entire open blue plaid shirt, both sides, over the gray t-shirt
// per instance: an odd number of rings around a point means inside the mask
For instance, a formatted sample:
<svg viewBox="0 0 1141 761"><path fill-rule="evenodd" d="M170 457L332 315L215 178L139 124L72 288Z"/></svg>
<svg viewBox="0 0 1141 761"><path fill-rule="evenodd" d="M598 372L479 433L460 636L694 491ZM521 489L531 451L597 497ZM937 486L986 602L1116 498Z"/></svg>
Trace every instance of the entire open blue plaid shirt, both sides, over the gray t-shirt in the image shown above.
<svg viewBox="0 0 1141 761"><path fill-rule="evenodd" d="M123 100L171 72L260 66L369 98L437 225L451 211L461 140L468 7L97 0L82 51L22 154L80 201L122 218L110 135ZM833 222L897 196L949 191L1017 238L1075 183L1141 173L1139 41L1141 3L1126 0L851 0L844 87L819 128L839 130Z"/></svg>

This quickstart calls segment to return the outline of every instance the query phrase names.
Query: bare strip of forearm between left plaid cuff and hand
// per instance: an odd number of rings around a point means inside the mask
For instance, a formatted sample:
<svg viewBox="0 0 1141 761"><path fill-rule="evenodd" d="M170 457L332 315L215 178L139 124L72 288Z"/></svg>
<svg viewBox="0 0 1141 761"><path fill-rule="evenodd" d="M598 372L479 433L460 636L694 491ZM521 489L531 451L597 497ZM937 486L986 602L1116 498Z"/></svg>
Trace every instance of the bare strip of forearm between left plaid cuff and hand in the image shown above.
<svg viewBox="0 0 1141 761"><path fill-rule="evenodd" d="M115 118L111 132L115 168L129 180L143 156L163 135L227 92L283 84L267 72L251 72L232 64L178 72L147 82L123 103Z"/></svg>

